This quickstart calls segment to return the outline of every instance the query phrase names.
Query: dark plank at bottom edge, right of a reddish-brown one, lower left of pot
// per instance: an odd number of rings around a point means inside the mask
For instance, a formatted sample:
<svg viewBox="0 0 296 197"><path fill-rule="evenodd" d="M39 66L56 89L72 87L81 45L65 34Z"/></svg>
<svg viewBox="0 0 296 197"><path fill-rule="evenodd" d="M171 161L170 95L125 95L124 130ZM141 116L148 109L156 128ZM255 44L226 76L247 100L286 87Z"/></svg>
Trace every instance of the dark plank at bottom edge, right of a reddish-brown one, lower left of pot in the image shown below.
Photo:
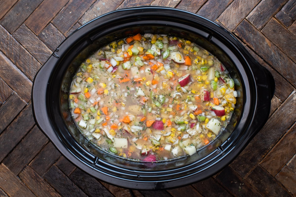
<svg viewBox="0 0 296 197"><path fill-rule="evenodd" d="M53 165L43 178L63 197L87 196L69 177Z"/></svg>

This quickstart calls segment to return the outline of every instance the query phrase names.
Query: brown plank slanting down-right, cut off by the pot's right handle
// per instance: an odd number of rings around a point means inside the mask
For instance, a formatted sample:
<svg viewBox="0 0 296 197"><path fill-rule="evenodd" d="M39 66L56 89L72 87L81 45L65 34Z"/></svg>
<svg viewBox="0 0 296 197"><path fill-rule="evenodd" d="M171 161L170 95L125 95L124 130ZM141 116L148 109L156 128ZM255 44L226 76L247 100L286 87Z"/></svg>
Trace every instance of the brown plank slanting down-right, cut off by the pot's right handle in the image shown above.
<svg viewBox="0 0 296 197"><path fill-rule="evenodd" d="M279 98L280 101L284 101L287 99L287 97L291 94L291 92L294 90L294 87L287 82L283 76L281 76L275 69L271 68L266 62L260 58L257 54L254 53L249 47L246 47L249 53L252 55L252 57L255 58L261 64L264 66L274 77L274 82L275 82L275 92L274 95Z"/></svg>

